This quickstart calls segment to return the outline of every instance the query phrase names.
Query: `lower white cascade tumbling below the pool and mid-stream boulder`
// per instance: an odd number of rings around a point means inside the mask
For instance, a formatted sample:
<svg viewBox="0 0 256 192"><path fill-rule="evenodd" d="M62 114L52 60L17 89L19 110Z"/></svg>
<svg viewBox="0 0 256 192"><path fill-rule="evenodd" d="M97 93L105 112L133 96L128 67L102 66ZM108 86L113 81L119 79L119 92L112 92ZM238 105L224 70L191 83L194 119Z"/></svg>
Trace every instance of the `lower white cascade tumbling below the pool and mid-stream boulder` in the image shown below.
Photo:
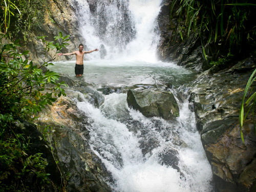
<svg viewBox="0 0 256 192"><path fill-rule="evenodd" d="M86 99L77 103L89 118L90 146L112 173L114 191L212 191L194 114L188 102L179 105L178 121L170 122L130 109L126 94L106 95L99 109Z"/></svg>

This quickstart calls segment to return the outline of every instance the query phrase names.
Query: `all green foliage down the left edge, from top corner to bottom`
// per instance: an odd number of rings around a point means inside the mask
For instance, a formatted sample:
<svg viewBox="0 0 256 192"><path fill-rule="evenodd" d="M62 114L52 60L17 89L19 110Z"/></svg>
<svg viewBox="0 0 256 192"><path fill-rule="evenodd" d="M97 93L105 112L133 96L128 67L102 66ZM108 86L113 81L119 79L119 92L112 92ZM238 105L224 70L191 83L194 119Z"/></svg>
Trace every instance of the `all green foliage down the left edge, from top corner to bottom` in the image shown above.
<svg viewBox="0 0 256 192"><path fill-rule="evenodd" d="M44 62L39 64L27 59L29 51L19 53L17 49L19 38L26 42L44 23L46 6L46 0L0 2L0 31L4 33L0 33L0 191L47 191L47 187L56 190L46 172L46 156L32 152L33 143L16 126L23 119L32 121L45 105L66 95L66 84L58 81L59 75L42 69L53 65L54 56L46 60L47 52L54 49L57 53L65 48L69 35L62 36L60 32L51 42L45 40L47 36L37 37L45 45L44 50L39 50L45 53ZM17 40L4 44L4 38ZM58 167L55 158L54 161ZM63 187L63 183L57 187Z"/></svg>

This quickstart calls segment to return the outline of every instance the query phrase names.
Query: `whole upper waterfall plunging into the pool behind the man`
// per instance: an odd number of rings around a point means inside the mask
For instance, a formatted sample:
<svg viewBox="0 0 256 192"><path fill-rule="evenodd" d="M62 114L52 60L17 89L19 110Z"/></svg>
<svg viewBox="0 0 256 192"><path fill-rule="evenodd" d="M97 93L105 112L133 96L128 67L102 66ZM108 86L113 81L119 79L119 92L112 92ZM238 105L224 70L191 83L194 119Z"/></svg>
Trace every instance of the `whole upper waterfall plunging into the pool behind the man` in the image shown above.
<svg viewBox="0 0 256 192"><path fill-rule="evenodd" d="M156 18L161 1L73 0L88 49L98 47L104 59L148 61L156 60Z"/></svg>

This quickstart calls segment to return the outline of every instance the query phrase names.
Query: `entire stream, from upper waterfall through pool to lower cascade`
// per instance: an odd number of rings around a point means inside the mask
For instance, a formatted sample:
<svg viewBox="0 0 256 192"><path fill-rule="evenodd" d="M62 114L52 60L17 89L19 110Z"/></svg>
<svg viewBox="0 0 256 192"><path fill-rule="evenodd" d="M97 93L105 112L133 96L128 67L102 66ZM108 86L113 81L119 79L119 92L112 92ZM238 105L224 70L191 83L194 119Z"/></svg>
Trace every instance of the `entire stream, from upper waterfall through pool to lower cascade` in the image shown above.
<svg viewBox="0 0 256 192"><path fill-rule="evenodd" d="M178 88L196 78L194 71L155 56L161 2L74 0L84 45L100 49L85 55L80 80L104 97L96 108L80 93L77 106L89 118L90 146L112 174L113 191L213 191L188 101L177 99L180 116L174 121L144 117L126 102L126 91L135 88L168 89L178 97ZM72 59L50 69L75 78ZM103 95L106 87L121 91Z"/></svg>

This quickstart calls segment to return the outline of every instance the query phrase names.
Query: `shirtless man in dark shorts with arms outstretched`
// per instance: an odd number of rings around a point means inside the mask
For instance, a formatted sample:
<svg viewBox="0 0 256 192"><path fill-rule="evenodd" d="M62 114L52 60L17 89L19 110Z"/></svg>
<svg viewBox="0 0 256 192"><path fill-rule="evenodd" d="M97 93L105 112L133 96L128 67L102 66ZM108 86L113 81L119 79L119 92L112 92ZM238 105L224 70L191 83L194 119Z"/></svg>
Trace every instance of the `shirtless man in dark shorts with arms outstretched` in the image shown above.
<svg viewBox="0 0 256 192"><path fill-rule="evenodd" d="M76 55L76 67L75 67L75 74L76 77L81 77L83 74L83 55L84 53L92 53L94 51L99 51L98 49L91 50L91 51L82 51L83 45L79 45L79 51L74 51L73 53L58 53L59 56L61 55Z"/></svg>

